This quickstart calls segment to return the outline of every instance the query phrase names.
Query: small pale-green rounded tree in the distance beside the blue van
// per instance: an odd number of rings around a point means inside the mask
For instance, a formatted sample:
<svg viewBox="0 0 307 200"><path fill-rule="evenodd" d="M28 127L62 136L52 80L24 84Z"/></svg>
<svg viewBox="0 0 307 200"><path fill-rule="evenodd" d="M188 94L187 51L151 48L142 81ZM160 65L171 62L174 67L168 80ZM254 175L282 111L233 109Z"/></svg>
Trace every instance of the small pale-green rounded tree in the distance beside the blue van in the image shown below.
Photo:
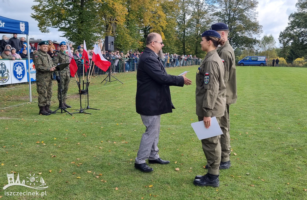
<svg viewBox="0 0 307 200"><path fill-rule="evenodd" d="M260 47L260 55L265 55L268 60L277 57L277 53L275 51L276 41L272 34L264 35L259 43Z"/></svg>

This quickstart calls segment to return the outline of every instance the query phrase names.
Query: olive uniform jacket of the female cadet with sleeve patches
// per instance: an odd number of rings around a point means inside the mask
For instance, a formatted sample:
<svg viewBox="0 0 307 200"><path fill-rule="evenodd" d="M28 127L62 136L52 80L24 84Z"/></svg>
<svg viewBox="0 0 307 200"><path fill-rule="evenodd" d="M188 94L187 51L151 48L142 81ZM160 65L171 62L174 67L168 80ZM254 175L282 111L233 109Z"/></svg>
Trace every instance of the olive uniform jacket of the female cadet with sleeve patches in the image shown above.
<svg viewBox="0 0 307 200"><path fill-rule="evenodd" d="M209 51L196 72L196 115L222 117L226 106L224 66L216 50Z"/></svg>

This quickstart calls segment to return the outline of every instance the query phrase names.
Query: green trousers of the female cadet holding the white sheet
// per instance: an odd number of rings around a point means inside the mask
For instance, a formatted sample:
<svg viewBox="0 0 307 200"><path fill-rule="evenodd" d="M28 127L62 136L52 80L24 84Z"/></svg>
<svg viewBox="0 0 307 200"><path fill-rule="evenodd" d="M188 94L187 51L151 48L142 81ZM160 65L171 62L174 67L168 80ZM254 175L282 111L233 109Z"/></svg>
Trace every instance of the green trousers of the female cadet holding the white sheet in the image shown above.
<svg viewBox="0 0 307 200"><path fill-rule="evenodd" d="M198 121L203 121L204 117L198 116ZM220 117L216 118L220 124ZM221 136L214 136L207 139L202 139L201 144L203 147L204 154L207 159L208 173L213 175L220 174L220 162L221 162Z"/></svg>

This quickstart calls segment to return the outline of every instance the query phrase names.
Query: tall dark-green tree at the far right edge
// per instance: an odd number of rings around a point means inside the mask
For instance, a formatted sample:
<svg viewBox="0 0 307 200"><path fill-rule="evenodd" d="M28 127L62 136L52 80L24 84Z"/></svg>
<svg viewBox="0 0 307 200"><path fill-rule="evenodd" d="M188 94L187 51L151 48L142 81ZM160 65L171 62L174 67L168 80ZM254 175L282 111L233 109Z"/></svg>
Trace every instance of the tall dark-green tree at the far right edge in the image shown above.
<svg viewBox="0 0 307 200"><path fill-rule="evenodd" d="M295 6L297 12L290 14L288 26L278 38L287 61L303 57L307 51L307 0L298 1Z"/></svg>

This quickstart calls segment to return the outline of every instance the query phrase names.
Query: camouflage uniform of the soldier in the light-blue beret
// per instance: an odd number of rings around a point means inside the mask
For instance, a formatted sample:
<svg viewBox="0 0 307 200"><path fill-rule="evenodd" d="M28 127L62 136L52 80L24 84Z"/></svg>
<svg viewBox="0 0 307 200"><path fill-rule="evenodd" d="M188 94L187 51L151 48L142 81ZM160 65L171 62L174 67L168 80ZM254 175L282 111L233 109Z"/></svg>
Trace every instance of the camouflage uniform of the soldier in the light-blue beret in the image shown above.
<svg viewBox="0 0 307 200"><path fill-rule="evenodd" d="M66 54L66 52L63 52L64 54ZM53 56L53 65L57 66L58 64L61 63L67 63L69 62L69 57L56 52ZM59 76L59 72L56 71L56 76ZM61 83L58 83L58 100L61 100L61 96L60 96L60 84L62 87L62 100L63 102L66 104L66 99L67 99L67 91L68 91L68 85L69 85L69 81L70 81L70 70L69 70L69 65L63 69L62 71L60 71L61 73Z"/></svg>

